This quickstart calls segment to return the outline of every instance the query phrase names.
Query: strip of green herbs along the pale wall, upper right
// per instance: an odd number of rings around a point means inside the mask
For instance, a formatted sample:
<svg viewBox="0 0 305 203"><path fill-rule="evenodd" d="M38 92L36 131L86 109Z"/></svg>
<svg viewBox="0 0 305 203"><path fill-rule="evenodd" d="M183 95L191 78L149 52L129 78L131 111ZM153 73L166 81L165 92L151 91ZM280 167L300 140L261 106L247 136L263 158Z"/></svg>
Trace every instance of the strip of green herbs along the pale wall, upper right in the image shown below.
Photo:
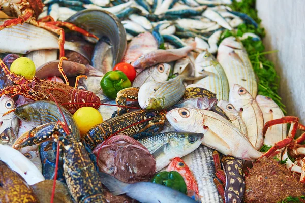
<svg viewBox="0 0 305 203"><path fill-rule="evenodd" d="M225 30L220 37L219 43L221 43L223 39L230 36L234 36L236 38L242 37L243 34L247 32L254 33L260 38L265 36L265 30L260 25L261 19L258 17L257 10L255 9L255 0L243 0L241 2L233 0L230 7L233 11L247 14L253 20L255 20L259 26L256 28L252 24L241 24L237 27L236 32ZM254 41L252 37L248 37L241 42L249 55L253 70L258 77L258 94L272 98L279 105L282 111L286 113L286 106L281 102L282 99L278 95L280 79L276 73L275 64L273 64L273 62L268 60L265 56L266 54L270 54L275 51L263 52L265 47L262 41Z"/></svg>

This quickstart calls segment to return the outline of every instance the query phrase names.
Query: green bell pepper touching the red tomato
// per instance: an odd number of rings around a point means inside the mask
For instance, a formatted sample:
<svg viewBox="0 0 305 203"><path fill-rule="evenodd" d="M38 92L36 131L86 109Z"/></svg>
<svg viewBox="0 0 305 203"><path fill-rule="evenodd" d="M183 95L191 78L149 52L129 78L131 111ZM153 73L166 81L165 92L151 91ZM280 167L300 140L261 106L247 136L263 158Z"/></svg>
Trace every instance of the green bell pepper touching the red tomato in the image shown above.
<svg viewBox="0 0 305 203"><path fill-rule="evenodd" d="M107 72L102 78L100 84L103 93L111 99L115 99L117 92L120 90L131 87L130 80L121 71Z"/></svg>

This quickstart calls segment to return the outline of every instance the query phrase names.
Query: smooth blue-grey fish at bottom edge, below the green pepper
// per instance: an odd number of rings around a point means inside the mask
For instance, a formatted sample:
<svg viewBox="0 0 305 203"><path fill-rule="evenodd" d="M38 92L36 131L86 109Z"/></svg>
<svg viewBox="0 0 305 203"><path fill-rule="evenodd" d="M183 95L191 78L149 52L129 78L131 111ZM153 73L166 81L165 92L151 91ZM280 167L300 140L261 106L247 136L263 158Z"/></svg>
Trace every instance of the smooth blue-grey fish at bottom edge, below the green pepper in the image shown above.
<svg viewBox="0 0 305 203"><path fill-rule="evenodd" d="M105 185L113 195L126 194L140 202L197 203L197 201L191 199L187 195L164 185L150 182L127 184L102 172L100 172L100 178L103 185Z"/></svg>

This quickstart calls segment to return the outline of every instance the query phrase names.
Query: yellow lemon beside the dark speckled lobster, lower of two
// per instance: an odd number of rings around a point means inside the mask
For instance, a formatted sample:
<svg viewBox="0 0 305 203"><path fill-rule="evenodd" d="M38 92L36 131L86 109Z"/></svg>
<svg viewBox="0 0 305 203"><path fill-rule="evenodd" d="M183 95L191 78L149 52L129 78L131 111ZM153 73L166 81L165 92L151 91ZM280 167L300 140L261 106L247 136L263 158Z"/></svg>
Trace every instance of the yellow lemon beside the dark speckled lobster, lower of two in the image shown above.
<svg viewBox="0 0 305 203"><path fill-rule="evenodd" d="M74 120L83 135L93 126L103 122L103 117L98 110L93 107L81 107L73 115Z"/></svg>

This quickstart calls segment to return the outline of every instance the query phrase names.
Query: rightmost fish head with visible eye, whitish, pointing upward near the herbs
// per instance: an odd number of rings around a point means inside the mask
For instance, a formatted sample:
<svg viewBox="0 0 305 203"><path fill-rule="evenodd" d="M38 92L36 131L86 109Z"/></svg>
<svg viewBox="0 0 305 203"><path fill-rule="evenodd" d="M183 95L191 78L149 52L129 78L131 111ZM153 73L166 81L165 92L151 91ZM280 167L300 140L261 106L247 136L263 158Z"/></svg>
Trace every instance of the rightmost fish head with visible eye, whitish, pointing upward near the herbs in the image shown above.
<svg viewBox="0 0 305 203"><path fill-rule="evenodd" d="M252 103L252 95L246 90L246 88L234 84L233 88L230 89L229 102L235 107L237 112L242 111L242 107Z"/></svg>

